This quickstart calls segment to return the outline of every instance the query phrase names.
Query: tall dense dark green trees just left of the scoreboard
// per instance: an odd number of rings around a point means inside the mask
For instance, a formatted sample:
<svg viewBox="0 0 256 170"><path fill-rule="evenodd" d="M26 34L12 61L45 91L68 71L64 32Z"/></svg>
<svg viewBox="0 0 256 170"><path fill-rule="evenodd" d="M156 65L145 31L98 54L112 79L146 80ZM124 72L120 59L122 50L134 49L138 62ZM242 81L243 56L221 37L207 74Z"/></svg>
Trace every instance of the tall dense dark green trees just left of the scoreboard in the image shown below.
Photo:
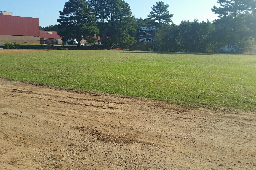
<svg viewBox="0 0 256 170"><path fill-rule="evenodd" d="M97 15L99 35L105 36L105 45L120 44L122 47L132 46L135 40L135 19L129 4L123 0L90 0L90 6ZM96 10L97 9L97 10ZM108 45L112 47L112 45ZM116 47L116 46L115 46Z"/></svg>

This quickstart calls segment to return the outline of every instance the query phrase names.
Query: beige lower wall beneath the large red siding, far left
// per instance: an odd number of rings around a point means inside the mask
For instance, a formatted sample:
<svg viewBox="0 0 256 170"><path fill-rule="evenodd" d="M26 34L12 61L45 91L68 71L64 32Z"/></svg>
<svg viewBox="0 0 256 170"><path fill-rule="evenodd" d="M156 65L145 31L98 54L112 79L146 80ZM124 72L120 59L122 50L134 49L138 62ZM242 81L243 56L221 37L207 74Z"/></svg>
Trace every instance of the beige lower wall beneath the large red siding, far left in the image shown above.
<svg viewBox="0 0 256 170"><path fill-rule="evenodd" d="M0 35L0 44L4 44L5 42L16 42L17 44L40 44L40 37Z"/></svg>

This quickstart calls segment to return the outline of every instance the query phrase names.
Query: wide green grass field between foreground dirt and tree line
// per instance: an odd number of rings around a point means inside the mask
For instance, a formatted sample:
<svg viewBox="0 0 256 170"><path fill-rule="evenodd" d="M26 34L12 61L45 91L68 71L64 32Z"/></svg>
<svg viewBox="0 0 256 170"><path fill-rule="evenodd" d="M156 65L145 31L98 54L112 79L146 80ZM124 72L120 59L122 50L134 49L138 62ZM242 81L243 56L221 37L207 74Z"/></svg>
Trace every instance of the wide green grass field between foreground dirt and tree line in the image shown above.
<svg viewBox="0 0 256 170"><path fill-rule="evenodd" d="M0 53L0 77L210 109L256 111L256 56L51 50Z"/></svg>

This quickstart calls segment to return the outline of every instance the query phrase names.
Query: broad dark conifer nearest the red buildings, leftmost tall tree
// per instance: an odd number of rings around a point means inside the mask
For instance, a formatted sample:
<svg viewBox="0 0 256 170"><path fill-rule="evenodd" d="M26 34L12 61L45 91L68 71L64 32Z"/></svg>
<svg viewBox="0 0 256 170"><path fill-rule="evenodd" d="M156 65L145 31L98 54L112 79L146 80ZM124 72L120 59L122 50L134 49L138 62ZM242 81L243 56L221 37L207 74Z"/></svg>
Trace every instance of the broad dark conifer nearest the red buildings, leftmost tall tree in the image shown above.
<svg viewBox="0 0 256 170"><path fill-rule="evenodd" d="M60 11L58 34L65 38L75 38L80 45L83 36L98 34L95 16L86 0L69 0Z"/></svg>

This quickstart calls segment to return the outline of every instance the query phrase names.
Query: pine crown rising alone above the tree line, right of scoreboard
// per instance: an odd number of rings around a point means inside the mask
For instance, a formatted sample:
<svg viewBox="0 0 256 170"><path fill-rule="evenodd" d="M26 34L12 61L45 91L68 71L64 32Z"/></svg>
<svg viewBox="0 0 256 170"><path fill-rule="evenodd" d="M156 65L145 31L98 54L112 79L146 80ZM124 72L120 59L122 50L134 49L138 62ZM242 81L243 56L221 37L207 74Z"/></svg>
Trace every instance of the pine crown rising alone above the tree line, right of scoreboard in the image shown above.
<svg viewBox="0 0 256 170"><path fill-rule="evenodd" d="M156 2L156 5L151 8L153 11L150 11L148 17L153 21L157 21L159 25L172 22L173 14L169 14L168 8L169 5L164 5L164 2Z"/></svg>

